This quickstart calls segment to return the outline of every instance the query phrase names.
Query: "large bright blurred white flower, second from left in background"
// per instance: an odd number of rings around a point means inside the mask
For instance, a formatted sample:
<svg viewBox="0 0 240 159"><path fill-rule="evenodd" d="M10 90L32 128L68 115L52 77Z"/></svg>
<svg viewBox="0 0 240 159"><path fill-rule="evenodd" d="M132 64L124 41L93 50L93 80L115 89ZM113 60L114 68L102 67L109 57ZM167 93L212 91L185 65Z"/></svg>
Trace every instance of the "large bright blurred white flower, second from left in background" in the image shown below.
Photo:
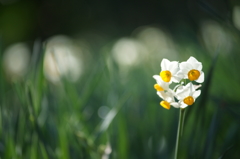
<svg viewBox="0 0 240 159"><path fill-rule="evenodd" d="M44 74L55 83L61 78L76 82L83 72L81 50L66 36L55 36L47 41Z"/></svg>

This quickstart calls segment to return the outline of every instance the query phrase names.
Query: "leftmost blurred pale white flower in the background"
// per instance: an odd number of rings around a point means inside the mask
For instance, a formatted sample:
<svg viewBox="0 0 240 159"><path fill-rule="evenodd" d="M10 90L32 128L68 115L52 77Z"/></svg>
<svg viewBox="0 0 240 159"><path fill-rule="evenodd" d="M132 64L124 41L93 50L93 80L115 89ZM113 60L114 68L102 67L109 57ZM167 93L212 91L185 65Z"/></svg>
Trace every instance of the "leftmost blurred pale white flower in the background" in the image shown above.
<svg viewBox="0 0 240 159"><path fill-rule="evenodd" d="M30 49L25 43L9 46L3 53L3 68L11 80L23 77L28 70Z"/></svg>

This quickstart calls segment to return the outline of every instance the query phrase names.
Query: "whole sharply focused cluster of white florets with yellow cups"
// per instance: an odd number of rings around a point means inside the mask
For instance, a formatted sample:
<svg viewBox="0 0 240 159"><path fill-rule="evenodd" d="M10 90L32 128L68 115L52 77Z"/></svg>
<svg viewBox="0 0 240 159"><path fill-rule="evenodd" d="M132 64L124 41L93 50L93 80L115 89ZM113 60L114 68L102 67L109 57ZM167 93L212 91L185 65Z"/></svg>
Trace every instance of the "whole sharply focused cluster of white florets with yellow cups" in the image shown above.
<svg viewBox="0 0 240 159"><path fill-rule="evenodd" d="M163 59L160 74L153 78L156 80L154 88L163 99L160 105L166 109L171 106L183 109L192 105L201 94L201 91L197 90L201 85L194 85L193 81L203 83L204 73L202 63L194 57L181 63ZM170 88L172 83L176 83L173 89Z"/></svg>

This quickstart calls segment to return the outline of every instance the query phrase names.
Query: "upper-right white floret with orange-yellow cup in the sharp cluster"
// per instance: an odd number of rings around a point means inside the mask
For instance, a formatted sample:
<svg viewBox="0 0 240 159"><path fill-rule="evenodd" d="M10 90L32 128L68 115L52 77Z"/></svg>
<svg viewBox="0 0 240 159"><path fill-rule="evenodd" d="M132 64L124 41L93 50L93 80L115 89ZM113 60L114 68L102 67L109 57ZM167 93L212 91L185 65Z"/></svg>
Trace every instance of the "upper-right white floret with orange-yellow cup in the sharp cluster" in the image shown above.
<svg viewBox="0 0 240 159"><path fill-rule="evenodd" d="M202 83L204 81L204 72L202 72L202 63L196 60L194 57L190 57L187 62L181 62L179 76L183 76L184 79L190 81L196 81Z"/></svg>

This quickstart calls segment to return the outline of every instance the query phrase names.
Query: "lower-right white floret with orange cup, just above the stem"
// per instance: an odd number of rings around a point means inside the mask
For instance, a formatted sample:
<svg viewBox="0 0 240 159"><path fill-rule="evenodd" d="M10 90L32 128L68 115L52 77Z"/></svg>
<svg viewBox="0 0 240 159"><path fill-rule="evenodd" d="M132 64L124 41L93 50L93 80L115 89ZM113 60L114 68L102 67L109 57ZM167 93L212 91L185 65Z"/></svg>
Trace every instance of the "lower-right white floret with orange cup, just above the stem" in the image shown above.
<svg viewBox="0 0 240 159"><path fill-rule="evenodd" d="M180 108L186 108L192 105L200 94L201 91L196 91L195 86L191 82L186 86L179 87L176 92L176 97L179 100Z"/></svg>

